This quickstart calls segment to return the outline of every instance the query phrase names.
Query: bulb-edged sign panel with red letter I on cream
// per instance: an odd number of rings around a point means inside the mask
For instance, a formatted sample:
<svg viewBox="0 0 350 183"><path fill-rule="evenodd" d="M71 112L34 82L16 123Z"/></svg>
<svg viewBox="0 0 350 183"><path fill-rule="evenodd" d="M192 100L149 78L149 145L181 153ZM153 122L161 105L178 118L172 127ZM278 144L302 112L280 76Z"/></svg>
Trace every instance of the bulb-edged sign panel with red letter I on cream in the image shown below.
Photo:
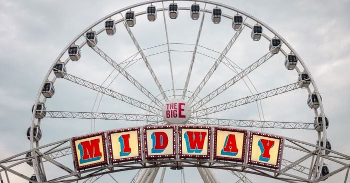
<svg viewBox="0 0 350 183"><path fill-rule="evenodd" d="M128 128L108 132L111 163L141 159L140 128Z"/></svg>

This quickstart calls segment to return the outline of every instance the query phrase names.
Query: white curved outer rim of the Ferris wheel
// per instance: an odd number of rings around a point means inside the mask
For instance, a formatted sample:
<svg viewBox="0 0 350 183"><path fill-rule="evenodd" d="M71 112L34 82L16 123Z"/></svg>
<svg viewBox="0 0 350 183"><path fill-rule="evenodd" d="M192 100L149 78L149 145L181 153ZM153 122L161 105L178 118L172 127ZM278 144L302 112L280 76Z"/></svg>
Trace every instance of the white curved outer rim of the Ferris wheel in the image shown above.
<svg viewBox="0 0 350 183"><path fill-rule="evenodd" d="M137 7L137 6L141 6L141 5L145 5L145 4L150 4L150 3L155 3L155 2L163 2L163 1L172 1L172 0L149 0L149 1L145 1L145 2L140 2L140 3L136 3L136 4L133 4L133 5L130 5L130 6L127 6L127 7L124 7L124 8L121 8L117 11L114 11L104 17L102 17L101 19L97 20L96 22L94 22L93 24L91 24L90 26L88 26L86 29L84 29L81 33L79 33L70 43L68 43L68 45L62 50L62 52L57 56L57 58L55 59L55 61L52 63L51 67L49 68L48 72L46 73L42 83L41 83L41 86L39 88L39 91L37 93L37 96L36 96L36 100L35 100L35 103L34 103L34 109L36 109L36 106L40 100L40 96L41 96L41 90L43 88L43 85L45 83L45 81L48 79L49 77L49 74L52 72L52 69L54 67L54 65L60 60L60 58L63 56L64 52L69 48L70 45L74 44L76 40L78 40L80 37L82 37L84 35L84 33L88 30L90 30L91 28L93 28L94 26L96 26L98 23L101 23L102 21L108 19L109 17L117 14L117 13L121 13L127 9L130 9L130 8L134 8L134 7ZM192 0L176 0L176 1L192 1ZM306 65L304 64L303 60L301 59L301 57L297 54L297 52L289 45L289 43L282 37L280 36L276 31L274 31L271 27L269 27L267 24L263 23L262 21L260 21L259 19L257 19L256 17L242 11L242 10L239 10L239 9L236 9L234 7L231 7L231 6L228 6L226 4L222 4L222 3L218 3L218 2L214 2L214 1L209 1L209 0L196 0L198 2L202 2L202 3L209 3L209 4L213 4L213 5L218 5L220 7L224 7L224 8L227 8L227 9L230 9L232 11L236 11L236 12L239 12L247 17L249 17L250 19L252 20L255 20L256 22L260 23L261 25L263 25L265 28L267 28L270 32L272 32L276 37L280 38L282 40L282 42L293 52L293 54L295 54L295 56L298 58L298 61L299 63L302 65L304 71L308 74L308 76L310 77L310 81L311 81L311 84L313 86L313 89L314 89L314 92L315 94L317 95L317 98L318 98L318 101L319 102L319 109L320 109L320 114L321 117L322 117L322 121L323 123L325 123L325 118L324 118L324 111L323 111L323 105L322 105L322 101L320 100L320 96L319 96L319 92L318 92L318 89L317 89L317 86L314 82L314 79L312 77L312 75L310 74L309 70L307 69ZM206 11L206 9L204 9ZM207 11L206 11L207 12ZM142 13L144 14L144 13ZM141 15L141 14L138 14L138 15ZM137 16L137 15L136 15ZM101 31L99 31L98 33L100 33ZM266 38L266 37L265 37ZM310 94L310 91L308 89L308 92ZM46 98L44 98L44 101L45 102ZM40 119L37 120L37 124L40 124ZM30 149L34 149L34 142L33 142L33 137L32 137L32 131L33 131L33 127L35 126L35 115L34 113L32 114L32 119L31 119L31 123L30 123L30 127L31 127L31 132L30 132ZM325 141L326 140L326 130L325 130L325 125L323 125L323 131L322 131L322 136L320 137L320 133L319 133L319 137L318 137L318 140L321 140L322 141ZM38 146L38 143L36 143L36 147ZM36 162L37 162L37 157L34 154L34 172L35 174L37 174L38 170L36 170ZM322 161L321 161L322 162ZM40 178L39 178L40 179Z"/></svg>

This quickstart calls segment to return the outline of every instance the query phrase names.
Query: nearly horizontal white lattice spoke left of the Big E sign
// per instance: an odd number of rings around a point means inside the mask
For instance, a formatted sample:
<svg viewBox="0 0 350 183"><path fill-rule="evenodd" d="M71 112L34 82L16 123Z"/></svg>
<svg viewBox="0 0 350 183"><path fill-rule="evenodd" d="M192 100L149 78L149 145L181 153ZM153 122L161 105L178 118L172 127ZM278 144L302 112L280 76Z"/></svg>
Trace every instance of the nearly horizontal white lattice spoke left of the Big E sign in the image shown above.
<svg viewBox="0 0 350 183"><path fill-rule="evenodd" d="M47 118L78 118L96 120L120 120L120 121L147 121L161 122L162 116L122 113L99 113L99 112L73 112L73 111L43 111Z"/></svg>

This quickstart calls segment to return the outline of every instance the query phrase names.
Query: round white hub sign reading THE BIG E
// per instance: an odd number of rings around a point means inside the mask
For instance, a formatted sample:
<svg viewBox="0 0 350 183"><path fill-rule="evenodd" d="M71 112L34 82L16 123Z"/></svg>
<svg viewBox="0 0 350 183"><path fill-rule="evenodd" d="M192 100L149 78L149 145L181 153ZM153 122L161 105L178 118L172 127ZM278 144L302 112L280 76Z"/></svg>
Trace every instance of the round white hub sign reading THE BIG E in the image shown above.
<svg viewBox="0 0 350 183"><path fill-rule="evenodd" d="M170 124L184 124L191 115L191 107L182 99L167 101L162 109L163 117Z"/></svg>

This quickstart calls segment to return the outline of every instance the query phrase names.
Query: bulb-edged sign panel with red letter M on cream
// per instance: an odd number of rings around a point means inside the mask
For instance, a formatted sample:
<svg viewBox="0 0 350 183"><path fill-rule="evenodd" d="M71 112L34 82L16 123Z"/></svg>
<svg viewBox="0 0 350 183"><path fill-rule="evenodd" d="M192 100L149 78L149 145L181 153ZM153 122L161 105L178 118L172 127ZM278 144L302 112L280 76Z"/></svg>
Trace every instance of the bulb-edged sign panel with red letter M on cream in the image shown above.
<svg viewBox="0 0 350 183"><path fill-rule="evenodd" d="M71 139L76 170L107 165L104 133L90 134Z"/></svg>

